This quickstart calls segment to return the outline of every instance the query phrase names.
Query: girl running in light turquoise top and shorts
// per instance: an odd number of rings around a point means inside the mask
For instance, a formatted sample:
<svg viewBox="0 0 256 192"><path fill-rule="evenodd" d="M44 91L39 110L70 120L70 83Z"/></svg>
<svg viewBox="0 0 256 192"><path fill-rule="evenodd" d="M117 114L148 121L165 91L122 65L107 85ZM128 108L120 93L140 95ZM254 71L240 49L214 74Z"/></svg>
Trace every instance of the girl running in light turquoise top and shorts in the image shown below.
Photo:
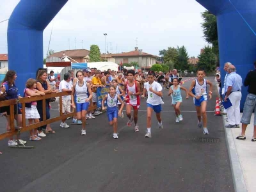
<svg viewBox="0 0 256 192"><path fill-rule="evenodd" d="M184 90L186 92L186 99L189 98L188 90L183 86L178 84L179 80L177 78L173 79L173 85L170 86L170 90L168 96L172 95L172 106L175 110L176 122L180 122L183 120L182 115L180 114L180 105L182 103L182 97L180 94L180 90Z"/></svg>

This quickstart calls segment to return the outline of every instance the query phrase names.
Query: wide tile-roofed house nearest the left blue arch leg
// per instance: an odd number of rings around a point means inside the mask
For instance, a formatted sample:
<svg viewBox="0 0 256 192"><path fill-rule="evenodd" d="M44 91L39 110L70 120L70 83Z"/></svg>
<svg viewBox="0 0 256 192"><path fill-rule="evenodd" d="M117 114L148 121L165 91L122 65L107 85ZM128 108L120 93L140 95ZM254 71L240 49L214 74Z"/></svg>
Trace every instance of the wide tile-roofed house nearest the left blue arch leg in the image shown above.
<svg viewBox="0 0 256 192"><path fill-rule="evenodd" d="M68 56L68 58L71 58L78 63L87 63L90 60L89 53L90 51L87 49L65 50L60 52L54 52L54 54L51 54L49 58L63 58L65 56Z"/></svg>

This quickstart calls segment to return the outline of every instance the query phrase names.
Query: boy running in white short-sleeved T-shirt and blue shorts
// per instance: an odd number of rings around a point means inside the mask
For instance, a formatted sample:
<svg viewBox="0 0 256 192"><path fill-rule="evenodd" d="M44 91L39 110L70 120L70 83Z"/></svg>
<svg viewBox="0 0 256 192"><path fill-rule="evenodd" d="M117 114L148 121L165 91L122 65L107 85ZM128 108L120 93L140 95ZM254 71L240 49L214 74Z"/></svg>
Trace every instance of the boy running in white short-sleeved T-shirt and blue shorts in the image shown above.
<svg viewBox="0 0 256 192"><path fill-rule="evenodd" d="M146 91L148 92L147 99L147 134L145 134L145 138L151 138L151 116L152 112L156 112L156 118L158 121L159 129L163 129L162 119L161 119L161 104L163 104L162 86L157 83L155 80L155 72L150 70L148 72L148 82L144 84L143 95L141 97L145 97Z"/></svg>

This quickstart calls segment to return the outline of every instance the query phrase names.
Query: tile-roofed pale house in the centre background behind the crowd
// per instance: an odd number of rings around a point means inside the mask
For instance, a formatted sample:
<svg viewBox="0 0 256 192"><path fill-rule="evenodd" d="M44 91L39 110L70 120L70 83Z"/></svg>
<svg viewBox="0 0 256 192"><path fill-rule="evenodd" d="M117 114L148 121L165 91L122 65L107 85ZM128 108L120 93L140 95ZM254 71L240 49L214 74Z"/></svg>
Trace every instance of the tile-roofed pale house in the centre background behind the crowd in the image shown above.
<svg viewBox="0 0 256 192"><path fill-rule="evenodd" d="M138 62L140 68L151 68L152 65L156 64L156 59L158 58L157 56L143 52L138 47L135 47L134 51L114 54L112 57L116 59L116 63L118 64Z"/></svg>

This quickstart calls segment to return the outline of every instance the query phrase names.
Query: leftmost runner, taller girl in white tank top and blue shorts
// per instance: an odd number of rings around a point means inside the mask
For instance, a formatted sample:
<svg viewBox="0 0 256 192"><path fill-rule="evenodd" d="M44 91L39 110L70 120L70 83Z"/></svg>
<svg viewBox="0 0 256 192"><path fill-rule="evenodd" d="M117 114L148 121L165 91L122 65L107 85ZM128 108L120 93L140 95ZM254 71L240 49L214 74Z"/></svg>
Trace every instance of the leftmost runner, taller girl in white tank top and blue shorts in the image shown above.
<svg viewBox="0 0 256 192"><path fill-rule="evenodd" d="M82 120L82 131L81 135L85 135L85 124L86 124L86 113L90 105L90 100L92 99L92 89L89 83L84 81L83 71L78 70L76 72L77 80L74 79L71 100L72 107L76 108L77 120ZM76 94L76 105L74 98ZM89 96L90 95L90 96Z"/></svg>

